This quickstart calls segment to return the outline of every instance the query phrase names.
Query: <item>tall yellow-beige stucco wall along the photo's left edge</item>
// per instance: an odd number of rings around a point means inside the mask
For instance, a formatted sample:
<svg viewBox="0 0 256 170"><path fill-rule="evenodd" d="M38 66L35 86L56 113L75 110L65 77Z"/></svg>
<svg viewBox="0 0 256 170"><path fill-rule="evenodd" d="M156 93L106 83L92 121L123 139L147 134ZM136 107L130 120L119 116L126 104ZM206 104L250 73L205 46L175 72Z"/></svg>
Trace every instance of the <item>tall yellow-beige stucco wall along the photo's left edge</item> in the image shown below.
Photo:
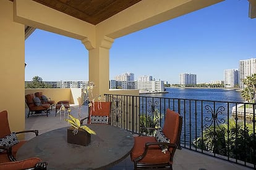
<svg viewBox="0 0 256 170"><path fill-rule="evenodd" d="M0 1L0 111L8 111L11 131L25 129L25 33L13 22L11 1Z"/></svg>

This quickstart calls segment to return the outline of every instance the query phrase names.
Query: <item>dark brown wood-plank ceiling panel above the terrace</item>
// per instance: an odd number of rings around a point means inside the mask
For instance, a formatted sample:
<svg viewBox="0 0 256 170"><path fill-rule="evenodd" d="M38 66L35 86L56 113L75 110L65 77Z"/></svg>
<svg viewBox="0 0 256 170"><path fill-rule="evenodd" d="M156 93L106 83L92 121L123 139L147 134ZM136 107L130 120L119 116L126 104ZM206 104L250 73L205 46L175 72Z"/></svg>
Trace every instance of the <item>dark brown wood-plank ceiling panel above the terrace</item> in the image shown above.
<svg viewBox="0 0 256 170"><path fill-rule="evenodd" d="M142 0L33 0L96 25Z"/></svg>

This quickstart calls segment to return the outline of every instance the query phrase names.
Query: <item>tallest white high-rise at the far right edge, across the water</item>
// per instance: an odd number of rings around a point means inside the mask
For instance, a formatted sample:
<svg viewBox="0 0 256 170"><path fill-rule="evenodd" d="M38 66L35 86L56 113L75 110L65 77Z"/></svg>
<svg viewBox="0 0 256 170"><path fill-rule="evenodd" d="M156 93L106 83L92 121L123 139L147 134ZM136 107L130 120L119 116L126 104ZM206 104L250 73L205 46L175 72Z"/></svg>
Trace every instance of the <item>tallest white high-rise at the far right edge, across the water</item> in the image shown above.
<svg viewBox="0 0 256 170"><path fill-rule="evenodd" d="M256 59L239 61L239 87L244 89L244 79L256 73Z"/></svg>

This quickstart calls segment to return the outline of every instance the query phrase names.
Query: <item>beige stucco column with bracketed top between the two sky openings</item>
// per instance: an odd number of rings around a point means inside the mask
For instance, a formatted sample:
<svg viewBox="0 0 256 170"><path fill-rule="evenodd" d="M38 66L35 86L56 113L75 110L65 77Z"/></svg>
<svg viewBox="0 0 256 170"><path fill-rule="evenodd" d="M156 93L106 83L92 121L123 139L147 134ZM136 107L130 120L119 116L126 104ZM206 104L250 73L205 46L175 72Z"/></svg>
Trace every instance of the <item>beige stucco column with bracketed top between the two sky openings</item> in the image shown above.
<svg viewBox="0 0 256 170"><path fill-rule="evenodd" d="M114 39L104 36L96 47L93 47L88 39L82 43L89 51L89 81L95 84L93 95L103 95L109 90L109 49Z"/></svg>

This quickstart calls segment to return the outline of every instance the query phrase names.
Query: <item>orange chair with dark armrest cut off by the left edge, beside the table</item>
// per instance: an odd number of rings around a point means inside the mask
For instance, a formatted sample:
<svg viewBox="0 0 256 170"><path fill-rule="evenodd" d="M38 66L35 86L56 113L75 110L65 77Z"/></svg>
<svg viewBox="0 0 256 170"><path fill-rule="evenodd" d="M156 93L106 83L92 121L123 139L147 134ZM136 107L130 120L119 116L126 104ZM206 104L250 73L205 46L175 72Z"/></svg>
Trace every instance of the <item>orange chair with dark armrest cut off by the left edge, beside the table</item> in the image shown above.
<svg viewBox="0 0 256 170"><path fill-rule="evenodd" d="M32 130L32 131L20 131L15 132L16 134L25 133L25 132L33 132L35 133L35 136L38 136L38 130ZM11 130L9 127L9 121L7 116L7 111L1 111L0 112L0 139L8 136L11 134ZM0 163L6 163L8 161L15 161L15 155L17 153L17 150L25 144L25 140L20 140L18 144L15 144L12 147L6 148L6 151L0 152Z"/></svg>

